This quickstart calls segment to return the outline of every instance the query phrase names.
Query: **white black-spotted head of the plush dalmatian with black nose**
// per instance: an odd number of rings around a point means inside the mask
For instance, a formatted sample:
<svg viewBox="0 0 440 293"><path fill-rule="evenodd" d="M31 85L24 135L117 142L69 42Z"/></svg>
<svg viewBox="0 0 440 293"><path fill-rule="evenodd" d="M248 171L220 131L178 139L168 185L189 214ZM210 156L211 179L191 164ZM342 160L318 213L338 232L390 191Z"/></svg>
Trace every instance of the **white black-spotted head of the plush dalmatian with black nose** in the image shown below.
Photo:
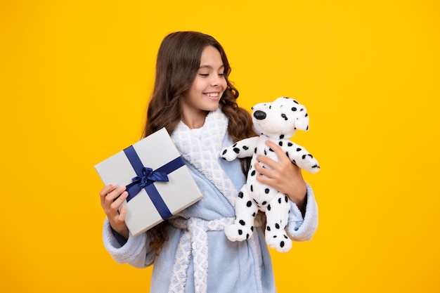
<svg viewBox="0 0 440 293"><path fill-rule="evenodd" d="M309 130L306 108L287 97L277 98L272 103L254 105L252 120L257 134L273 139L290 138L297 129Z"/></svg>

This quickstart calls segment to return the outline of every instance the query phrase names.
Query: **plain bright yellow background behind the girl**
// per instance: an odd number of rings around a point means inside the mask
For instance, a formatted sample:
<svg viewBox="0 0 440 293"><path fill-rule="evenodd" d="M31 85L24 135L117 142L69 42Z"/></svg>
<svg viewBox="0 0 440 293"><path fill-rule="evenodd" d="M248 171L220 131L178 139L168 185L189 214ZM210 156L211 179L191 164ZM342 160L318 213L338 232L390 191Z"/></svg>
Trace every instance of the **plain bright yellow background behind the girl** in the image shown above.
<svg viewBox="0 0 440 293"><path fill-rule="evenodd" d="M279 292L439 292L438 1L1 1L0 291L147 292L112 261L93 165L141 137L157 48L224 45L240 105L304 103L320 209Z"/></svg>

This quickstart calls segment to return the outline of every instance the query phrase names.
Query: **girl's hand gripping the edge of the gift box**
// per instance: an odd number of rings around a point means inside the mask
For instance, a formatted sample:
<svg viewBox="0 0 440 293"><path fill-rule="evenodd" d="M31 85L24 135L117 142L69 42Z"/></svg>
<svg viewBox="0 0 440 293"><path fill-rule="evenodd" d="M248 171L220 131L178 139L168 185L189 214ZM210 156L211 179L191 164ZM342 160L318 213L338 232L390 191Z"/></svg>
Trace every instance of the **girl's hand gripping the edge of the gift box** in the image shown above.
<svg viewBox="0 0 440 293"><path fill-rule="evenodd" d="M105 215L107 215L108 221L110 221L110 226L127 240L129 238L129 228L127 228L124 222L127 208L122 206L119 211L119 207L129 195L125 191L125 186L107 185L101 190L99 195L101 195L101 206L104 209Z"/></svg>

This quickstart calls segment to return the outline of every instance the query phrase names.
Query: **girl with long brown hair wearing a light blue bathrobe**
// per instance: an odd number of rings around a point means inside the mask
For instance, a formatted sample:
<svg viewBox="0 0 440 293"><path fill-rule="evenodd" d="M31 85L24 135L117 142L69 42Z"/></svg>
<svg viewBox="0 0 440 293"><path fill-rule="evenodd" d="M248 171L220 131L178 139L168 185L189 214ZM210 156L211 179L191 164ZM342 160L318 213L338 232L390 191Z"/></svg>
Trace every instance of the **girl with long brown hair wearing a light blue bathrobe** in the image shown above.
<svg viewBox="0 0 440 293"><path fill-rule="evenodd" d="M245 183L250 159L227 162L221 148L255 136L250 114L239 108L238 91L224 49L199 32L174 32L157 54L153 94L144 136L166 127L204 197L147 233L132 237L124 223L124 186L101 190L106 219L103 240L119 263L153 265L150 292L276 292L272 264L261 227L250 239L231 242L224 226L235 219L238 190ZM283 151L268 142L279 162L267 157L255 168L259 181L291 200L287 231L296 241L310 240L318 214L310 186ZM117 198L117 199L116 199ZM115 200L116 199L116 200Z"/></svg>

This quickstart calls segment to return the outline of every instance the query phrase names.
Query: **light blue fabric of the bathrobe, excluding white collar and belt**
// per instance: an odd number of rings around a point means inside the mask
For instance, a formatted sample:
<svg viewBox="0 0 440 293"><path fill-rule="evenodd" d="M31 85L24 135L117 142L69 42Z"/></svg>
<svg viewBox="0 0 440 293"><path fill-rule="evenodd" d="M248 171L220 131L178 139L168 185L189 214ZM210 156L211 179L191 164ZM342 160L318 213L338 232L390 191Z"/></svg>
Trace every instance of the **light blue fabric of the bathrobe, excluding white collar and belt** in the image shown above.
<svg viewBox="0 0 440 293"><path fill-rule="evenodd" d="M226 136L223 146L231 145L231 143L230 138ZM226 197L198 169L195 169L189 162L186 164L204 197L176 216L184 219L196 217L207 221L234 217L235 210ZM231 178L235 188L240 190L245 183L240 162L238 160L227 162L219 159L219 164ZM294 203L291 204L292 209L287 225L288 233L295 241L311 240L318 225L318 209L310 186L307 185L307 205L304 219L297 206ZM125 242L112 231L108 219L105 219L103 241L112 258L118 263L129 263L137 268L145 268L154 264L150 292L166 293L169 289L176 249L183 235L183 230L169 226L168 233L169 240L165 242L159 256L155 256L155 252L151 251L150 239L146 233L138 237L130 235ZM256 233L249 240L242 242L231 242L223 230L208 231L207 242L209 247L207 292L276 292L271 257L261 227L256 229ZM292 250L294 249L295 245ZM192 258L186 274L184 292L195 292Z"/></svg>

